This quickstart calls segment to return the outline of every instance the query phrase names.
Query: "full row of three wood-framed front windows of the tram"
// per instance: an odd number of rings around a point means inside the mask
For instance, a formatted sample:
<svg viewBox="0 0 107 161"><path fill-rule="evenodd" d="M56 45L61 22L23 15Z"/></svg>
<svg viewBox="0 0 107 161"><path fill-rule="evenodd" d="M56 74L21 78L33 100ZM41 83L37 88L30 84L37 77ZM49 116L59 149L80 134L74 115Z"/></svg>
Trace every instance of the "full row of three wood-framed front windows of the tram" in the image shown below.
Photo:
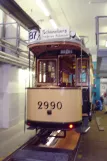
<svg viewBox="0 0 107 161"><path fill-rule="evenodd" d="M37 60L38 85L75 87L88 85L89 59L76 55L59 55L54 59Z"/></svg>

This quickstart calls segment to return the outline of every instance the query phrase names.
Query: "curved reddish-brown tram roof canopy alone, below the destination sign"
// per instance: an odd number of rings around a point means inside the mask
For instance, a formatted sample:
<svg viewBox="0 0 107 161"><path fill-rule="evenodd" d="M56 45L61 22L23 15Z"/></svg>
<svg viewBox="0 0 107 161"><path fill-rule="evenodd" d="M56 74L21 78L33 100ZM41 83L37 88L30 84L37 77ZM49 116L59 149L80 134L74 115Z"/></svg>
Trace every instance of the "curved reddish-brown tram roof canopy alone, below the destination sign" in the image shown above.
<svg viewBox="0 0 107 161"><path fill-rule="evenodd" d="M39 56L41 53L45 51L52 50L80 50L89 54L89 50L81 44L81 42L76 40L66 40L66 39L57 39L57 40L41 40L30 43L28 45L30 51L34 53L34 55Z"/></svg>

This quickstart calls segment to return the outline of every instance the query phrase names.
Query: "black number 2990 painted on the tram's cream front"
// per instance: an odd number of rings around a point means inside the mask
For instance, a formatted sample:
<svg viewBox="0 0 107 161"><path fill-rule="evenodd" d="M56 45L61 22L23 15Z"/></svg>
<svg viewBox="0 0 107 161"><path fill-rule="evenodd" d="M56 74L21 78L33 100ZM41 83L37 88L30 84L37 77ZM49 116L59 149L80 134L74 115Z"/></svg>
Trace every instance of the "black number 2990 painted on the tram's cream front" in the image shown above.
<svg viewBox="0 0 107 161"><path fill-rule="evenodd" d="M58 109L58 110L61 110L62 109L62 103L61 102L48 102L48 101L45 101L45 102L42 102L42 101L39 101L38 102L38 109L48 109L48 108L51 108L51 109Z"/></svg>

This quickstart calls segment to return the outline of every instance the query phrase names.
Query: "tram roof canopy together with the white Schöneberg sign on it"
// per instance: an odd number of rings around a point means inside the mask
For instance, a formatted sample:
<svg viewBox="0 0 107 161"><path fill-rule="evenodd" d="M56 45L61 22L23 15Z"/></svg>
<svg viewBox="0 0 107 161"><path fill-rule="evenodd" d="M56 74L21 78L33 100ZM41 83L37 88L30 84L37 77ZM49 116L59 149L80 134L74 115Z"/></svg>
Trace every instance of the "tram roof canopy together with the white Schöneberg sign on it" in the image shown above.
<svg viewBox="0 0 107 161"><path fill-rule="evenodd" d="M60 33L58 37L55 35L56 32L62 32L63 35ZM71 34L72 33L70 33L69 30L62 28L59 30L45 30L45 32L43 30L43 32L41 31L40 33L36 32L36 39L31 39L28 48L34 53L35 56L39 56L46 51L55 50L82 50L88 55L89 50L85 47L83 40L77 35L72 36Z"/></svg>

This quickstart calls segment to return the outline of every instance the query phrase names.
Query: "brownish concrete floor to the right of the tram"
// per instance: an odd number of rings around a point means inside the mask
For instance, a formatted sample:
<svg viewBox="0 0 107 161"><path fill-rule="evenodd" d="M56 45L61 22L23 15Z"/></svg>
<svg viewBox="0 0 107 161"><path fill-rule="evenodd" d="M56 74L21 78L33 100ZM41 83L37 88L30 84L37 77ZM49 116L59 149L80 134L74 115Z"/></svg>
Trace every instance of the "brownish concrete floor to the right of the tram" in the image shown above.
<svg viewBox="0 0 107 161"><path fill-rule="evenodd" d="M99 131L95 117L100 117L104 131ZM82 135L76 161L107 161L107 114L96 112L91 129Z"/></svg>

